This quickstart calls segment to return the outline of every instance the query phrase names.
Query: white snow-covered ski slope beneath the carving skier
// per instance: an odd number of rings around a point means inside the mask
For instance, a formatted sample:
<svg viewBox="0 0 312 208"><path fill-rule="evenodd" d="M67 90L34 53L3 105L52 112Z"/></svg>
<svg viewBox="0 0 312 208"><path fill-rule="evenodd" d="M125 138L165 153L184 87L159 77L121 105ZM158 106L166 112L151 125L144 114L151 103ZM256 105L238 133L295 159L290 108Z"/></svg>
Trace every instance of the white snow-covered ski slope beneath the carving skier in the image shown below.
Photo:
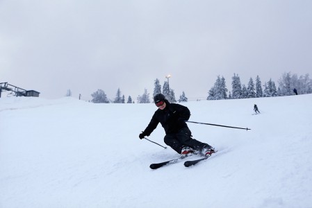
<svg viewBox="0 0 312 208"><path fill-rule="evenodd" d="M312 207L312 94L183 103L197 166L139 133L154 104L0 98L0 207ZM254 114L254 104L261 114ZM148 139L163 146L161 125Z"/></svg>

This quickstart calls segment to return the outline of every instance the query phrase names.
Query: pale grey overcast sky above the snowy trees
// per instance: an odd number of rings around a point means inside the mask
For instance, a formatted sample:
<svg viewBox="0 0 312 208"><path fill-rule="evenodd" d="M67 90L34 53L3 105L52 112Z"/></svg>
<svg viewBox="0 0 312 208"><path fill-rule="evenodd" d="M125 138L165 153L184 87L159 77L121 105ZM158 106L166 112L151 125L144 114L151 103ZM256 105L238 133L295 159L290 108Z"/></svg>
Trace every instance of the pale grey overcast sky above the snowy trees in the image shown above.
<svg viewBox="0 0 312 208"><path fill-rule="evenodd" d="M311 0L0 0L0 83L85 100L134 101L171 74L176 99L208 96L217 76L264 84L312 76Z"/></svg>

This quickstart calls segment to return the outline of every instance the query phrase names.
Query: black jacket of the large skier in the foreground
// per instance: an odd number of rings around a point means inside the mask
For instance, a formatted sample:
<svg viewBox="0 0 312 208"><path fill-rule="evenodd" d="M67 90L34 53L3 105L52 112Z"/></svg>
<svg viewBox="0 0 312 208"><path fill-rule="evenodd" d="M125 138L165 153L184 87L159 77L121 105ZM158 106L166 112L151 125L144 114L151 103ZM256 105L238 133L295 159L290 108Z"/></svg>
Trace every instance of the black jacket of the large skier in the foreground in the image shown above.
<svg viewBox="0 0 312 208"><path fill-rule="evenodd" d="M181 128L187 128L186 121L190 118L190 110L188 107L183 105L179 105L176 103L169 103L165 101L167 104L165 109L163 110L156 110L149 125L144 130L144 134L149 136L151 132L155 130L158 123L161 123L163 126L166 135L174 134L179 132Z"/></svg>

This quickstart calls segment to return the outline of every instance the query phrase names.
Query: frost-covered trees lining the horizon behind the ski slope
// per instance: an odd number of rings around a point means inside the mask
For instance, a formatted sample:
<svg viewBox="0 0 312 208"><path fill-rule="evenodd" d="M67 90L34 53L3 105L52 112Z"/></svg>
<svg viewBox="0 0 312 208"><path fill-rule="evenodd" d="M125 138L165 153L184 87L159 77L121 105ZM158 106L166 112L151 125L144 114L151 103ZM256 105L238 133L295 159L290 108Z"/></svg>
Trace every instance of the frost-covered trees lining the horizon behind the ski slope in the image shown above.
<svg viewBox="0 0 312 208"><path fill-rule="evenodd" d="M297 76L297 74L283 73L277 85L270 78L264 84L261 83L259 76L256 76L255 82L253 78L249 78L247 85L240 82L238 74L234 73L231 78L231 91L227 89L225 78L217 76L213 87L208 91L207 100L224 100L224 99L240 99L240 98L261 98L261 97L275 97L275 96L290 96L295 94L311 94L312 93L312 80L309 78L309 73L304 76ZM162 93L165 95L170 103L188 102L185 92L179 96L176 101L174 89L171 89L169 83L165 81L161 87L158 78L154 81L153 97ZM112 101L108 99L104 90L98 89L91 94L92 103L134 103L131 96L128 96L126 101L125 96L122 95L120 88L117 89L115 99ZM151 103L147 89L144 90L142 95L137 98L137 103Z"/></svg>

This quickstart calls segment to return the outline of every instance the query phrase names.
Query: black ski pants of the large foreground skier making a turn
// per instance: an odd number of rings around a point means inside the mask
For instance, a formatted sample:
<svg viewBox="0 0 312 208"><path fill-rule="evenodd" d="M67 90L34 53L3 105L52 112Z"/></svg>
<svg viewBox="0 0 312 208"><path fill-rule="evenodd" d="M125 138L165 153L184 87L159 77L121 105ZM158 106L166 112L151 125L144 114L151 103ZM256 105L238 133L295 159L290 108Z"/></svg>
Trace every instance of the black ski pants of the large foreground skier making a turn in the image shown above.
<svg viewBox="0 0 312 208"><path fill-rule="evenodd" d="M182 128L175 134L165 135L164 141L167 146L170 146L179 154L181 154L183 146L189 146L194 150L202 150L204 146L208 146L208 144L192 139L191 134L189 128Z"/></svg>

